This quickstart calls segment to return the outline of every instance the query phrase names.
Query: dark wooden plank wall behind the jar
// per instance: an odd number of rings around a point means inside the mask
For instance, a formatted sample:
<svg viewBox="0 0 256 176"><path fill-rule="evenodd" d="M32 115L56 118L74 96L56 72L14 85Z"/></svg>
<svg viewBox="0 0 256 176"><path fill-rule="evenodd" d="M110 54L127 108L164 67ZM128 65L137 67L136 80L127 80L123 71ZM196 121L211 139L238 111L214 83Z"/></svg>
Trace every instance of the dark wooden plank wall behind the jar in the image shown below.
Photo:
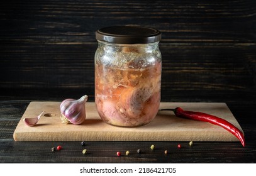
<svg viewBox="0 0 256 176"><path fill-rule="evenodd" d="M94 92L95 31L162 31L162 94L255 91L255 1L10 1L0 3L0 88ZM231 95L232 96L232 95Z"/></svg>

